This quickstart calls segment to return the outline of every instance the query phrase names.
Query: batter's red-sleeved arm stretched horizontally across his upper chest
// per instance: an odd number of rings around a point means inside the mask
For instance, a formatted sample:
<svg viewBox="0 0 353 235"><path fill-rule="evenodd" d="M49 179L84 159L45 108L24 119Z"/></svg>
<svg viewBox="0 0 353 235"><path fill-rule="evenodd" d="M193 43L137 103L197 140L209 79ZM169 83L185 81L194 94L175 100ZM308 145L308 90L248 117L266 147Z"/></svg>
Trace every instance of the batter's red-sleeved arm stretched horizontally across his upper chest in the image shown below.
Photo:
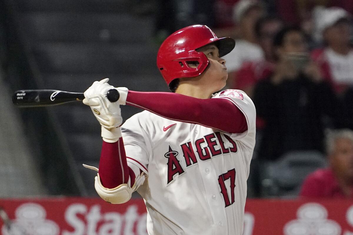
<svg viewBox="0 0 353 235"><path fill-rule="evenodd" d="M170 92L129 91L126 104L168 119L200 124L230 133L247 130L243 112L227 99L198 99Z"/></svg>

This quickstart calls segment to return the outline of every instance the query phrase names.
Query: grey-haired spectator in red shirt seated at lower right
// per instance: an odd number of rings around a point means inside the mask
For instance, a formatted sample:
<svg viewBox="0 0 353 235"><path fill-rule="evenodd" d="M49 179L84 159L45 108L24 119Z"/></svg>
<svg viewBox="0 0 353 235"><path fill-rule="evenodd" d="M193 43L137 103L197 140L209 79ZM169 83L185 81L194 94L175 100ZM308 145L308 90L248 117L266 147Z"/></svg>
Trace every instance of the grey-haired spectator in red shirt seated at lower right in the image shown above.
<svg viewBox="0 0 353 235"><path fill-rule="evenodd" d="M329 167L310 174L301 188L305 198L353 198L353 131L341 129L327 135Z"/></svg>

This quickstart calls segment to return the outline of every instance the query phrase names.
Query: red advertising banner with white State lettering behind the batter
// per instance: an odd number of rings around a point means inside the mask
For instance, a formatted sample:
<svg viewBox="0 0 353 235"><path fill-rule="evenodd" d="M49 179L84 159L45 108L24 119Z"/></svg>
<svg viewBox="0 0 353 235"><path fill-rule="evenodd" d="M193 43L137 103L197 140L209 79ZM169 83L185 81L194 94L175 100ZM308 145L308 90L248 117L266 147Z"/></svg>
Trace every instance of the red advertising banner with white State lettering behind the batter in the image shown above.
<svg viewBox="0 0 353 235"><path fill-rule="evenodd" d="M3 235L146 235L142 199L0 199ZM8 216L8 218L6 218ZM349 200L248 199L243 235L353 235Z"/></svg>

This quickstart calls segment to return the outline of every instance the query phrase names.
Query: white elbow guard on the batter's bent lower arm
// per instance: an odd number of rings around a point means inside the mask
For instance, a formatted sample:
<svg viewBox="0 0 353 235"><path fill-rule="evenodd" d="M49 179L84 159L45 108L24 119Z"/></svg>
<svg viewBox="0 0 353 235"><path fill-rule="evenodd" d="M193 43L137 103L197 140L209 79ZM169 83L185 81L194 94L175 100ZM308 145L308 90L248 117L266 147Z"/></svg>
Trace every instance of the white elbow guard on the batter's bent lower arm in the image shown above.
<svg viewBox="0 0 353 235"><path fill-rule="evenodd" d="M95 177L94 187L98 195L106 202L112 204L122 204L130 200L132 188L128 184L121 184L115 188L106 188L102 185L99 173Z"/></svg>

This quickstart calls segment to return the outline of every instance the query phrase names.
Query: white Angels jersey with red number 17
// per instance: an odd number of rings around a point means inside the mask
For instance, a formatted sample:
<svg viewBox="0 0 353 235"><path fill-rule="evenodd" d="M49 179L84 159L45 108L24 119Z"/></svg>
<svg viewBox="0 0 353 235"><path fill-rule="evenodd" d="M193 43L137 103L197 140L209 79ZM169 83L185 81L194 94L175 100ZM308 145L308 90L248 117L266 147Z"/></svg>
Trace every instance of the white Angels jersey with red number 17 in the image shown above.
<svg viewBox="0 0 353 235"><path fill-rule="evenodd" d="M212 98L228 99L239 107L248 130L223 133L149 111L122 125L128 164L148 175L137 192L146 204L150 235L243 233L255 106L239 90L228 89Z"/></svg>

